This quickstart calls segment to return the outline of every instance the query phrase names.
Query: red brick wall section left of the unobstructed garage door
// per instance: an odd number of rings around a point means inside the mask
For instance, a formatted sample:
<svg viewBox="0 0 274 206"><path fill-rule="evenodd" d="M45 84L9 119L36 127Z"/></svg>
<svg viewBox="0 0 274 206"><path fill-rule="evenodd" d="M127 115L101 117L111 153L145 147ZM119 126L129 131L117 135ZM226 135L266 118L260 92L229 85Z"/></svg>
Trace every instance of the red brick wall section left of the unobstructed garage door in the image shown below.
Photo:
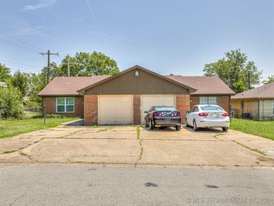
<svg viewBox="0 0 274 206"><path fill-rule="evenodd" d="M98 95L84 95L84 124L98 124Z"/></svg>

